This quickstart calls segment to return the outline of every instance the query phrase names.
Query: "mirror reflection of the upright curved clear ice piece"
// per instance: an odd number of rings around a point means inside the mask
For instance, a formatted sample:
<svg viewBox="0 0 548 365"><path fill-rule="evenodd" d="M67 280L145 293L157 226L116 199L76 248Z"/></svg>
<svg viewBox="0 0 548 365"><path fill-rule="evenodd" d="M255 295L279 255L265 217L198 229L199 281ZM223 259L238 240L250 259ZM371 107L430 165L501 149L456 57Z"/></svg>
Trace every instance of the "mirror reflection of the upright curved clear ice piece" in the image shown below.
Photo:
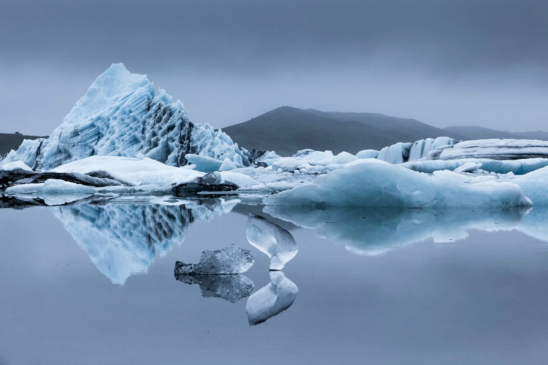
<svg viewBox="0 0 548 365"><path fill-rule="evenodd" d="M260 288L247 300L246 312L250 326L258 325L288 309L299 288L281 271L270 271L269 285Z"/></svg>

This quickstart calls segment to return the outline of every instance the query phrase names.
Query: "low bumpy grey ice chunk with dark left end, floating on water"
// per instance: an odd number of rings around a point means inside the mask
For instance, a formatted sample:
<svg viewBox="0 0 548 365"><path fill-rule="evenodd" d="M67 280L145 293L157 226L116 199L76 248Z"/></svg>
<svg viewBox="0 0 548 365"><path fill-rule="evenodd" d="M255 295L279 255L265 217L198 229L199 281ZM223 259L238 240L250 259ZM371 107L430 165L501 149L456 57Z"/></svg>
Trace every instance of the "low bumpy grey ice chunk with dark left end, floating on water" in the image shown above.
<svg viewBox="0 0 548 365"><path fill-rule="evenodd" d="M221 250L203 251L197 264L178 261L174 272L175 275L241 274L253 266L254 262L249 250L232 244Z"/></svg>

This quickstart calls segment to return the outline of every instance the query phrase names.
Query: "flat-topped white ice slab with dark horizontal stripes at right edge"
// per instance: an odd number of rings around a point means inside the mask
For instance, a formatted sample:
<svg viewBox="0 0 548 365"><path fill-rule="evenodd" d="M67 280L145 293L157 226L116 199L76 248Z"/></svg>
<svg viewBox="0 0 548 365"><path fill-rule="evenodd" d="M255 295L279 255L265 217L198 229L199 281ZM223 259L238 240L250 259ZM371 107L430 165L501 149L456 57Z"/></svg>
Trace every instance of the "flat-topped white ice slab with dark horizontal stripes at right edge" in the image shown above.
<svg viewBox="0 0 548 365"><path fill-rule="evenodd" d="M464 158L486 158L493 160L518 160L548 158L548 141L537 140L473 140L456 143L442 149L428 159L456 160Z"/></svg>

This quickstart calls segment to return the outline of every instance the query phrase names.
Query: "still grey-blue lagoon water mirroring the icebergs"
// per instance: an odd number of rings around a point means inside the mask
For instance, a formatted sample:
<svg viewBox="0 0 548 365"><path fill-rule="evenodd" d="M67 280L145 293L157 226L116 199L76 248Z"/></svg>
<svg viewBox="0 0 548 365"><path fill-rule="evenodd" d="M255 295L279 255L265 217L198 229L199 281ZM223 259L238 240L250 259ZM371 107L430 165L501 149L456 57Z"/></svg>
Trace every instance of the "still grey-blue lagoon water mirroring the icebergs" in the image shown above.
<svg viewBox="0 0 548 365"><path fill-rule="evenodd" d="M298 246L281 271L268 237L248 241L250 214ZM1 364L546 362L542 208L126 199L4 208L0 222ZM252 252L245 273L174 277L177 260L231 244Z"/></svg>

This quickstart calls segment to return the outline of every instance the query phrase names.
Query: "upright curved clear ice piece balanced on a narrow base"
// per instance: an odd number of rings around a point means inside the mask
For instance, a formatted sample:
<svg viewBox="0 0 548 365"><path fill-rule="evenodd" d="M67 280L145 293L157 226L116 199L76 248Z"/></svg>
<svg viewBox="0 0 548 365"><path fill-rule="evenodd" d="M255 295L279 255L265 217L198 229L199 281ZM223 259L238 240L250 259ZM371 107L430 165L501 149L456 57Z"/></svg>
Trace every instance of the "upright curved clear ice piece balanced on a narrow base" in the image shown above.
<svg viewBox="0 0 548 365"><path fill-rule="evenodd" d="M250 244L270 257L270 270L281 270L299 250L287 230L260 216L249 216L246 236Z"/></svg>

